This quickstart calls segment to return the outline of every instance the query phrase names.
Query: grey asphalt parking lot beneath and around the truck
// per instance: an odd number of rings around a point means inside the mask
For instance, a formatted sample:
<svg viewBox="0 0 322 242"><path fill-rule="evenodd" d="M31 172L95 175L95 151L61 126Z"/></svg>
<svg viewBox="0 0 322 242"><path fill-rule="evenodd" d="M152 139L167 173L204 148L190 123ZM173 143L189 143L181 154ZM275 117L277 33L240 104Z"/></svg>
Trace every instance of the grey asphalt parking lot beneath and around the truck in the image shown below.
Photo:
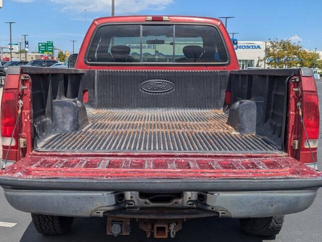
<svg viewBox="0 0 322 242"><path fill-rule="evenodd" d="M322 100L322 80L316 82ZM0 97L2 88L0 88ZM320 110L322 101L320 101ZM320 115L320 124L322 115ZM321 134L322 128L320 130ZM319 169L322 170L322 141L319 140ZM1 152L1 151L0 151ZM0 153L1 154L1 153ZM322 241L322 189L312 206L300 213L285 216L284 226L275 238L254 237L241 231L237 219L216 217L187 221L174 239L161 241ZM63 204L62 204L63 206ZM130 236L105 235L105 218L75 218L66 235L45 236L37 233L29 213L11 207L0 188L0 241L146 241L145 232L132 223ZM150 238L149 241L155 241ZM158 240L160 241L160 240Z"/></svg>

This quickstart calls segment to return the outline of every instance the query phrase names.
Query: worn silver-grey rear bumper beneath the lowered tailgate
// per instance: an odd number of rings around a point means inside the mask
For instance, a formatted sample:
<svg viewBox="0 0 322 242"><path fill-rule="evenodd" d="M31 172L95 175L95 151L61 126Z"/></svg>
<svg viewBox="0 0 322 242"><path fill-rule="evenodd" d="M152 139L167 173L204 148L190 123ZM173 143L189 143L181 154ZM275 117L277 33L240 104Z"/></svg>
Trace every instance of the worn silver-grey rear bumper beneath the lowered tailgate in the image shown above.
<svg viewBox="0 0 322 242"><path fill-rule="evenodd" d="M146 208L149 216L156 216L160 208L168 209L162 218L184 218L187 211L193 217L268 217L296 213L307 209L314 201L315 190L253 191L253 192L204 192L204 201L198 201L198 192L184 192L183 198L171 204L151 204L139 199L138 192L125 192L125 200L117 200L115 192L14 190L5 189L8 202L16 209L40 214L94 217L142 217ZM190 199L187 199L189 196ZM145 200L144 200L145 201ZM176 204L176 203L177 204ZM153 208L157 210L153 211ZM136 209L126 209L136 208ZM138 210L138 208L143 210ZM171 212L169 209L176 209ZM179 209L179 211L178 211ZM133 213L135 211L135 213ZM127 214L129 213L129 214ZM182 216L182 217L181 217Z"/></svg>

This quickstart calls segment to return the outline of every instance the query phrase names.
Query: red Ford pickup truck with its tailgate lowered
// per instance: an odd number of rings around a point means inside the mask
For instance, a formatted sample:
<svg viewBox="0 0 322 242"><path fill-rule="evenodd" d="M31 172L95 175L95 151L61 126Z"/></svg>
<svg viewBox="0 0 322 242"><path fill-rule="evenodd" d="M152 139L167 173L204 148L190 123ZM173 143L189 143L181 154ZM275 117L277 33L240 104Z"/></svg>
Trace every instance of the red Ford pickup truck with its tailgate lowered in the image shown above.
<svg viewBox="0 0 322 242"><path fill-rule="evenodd" d="M206 216L277 234L322 186L313 72L238 69L220 20L178 16L96 19L75 68L9 68L7 200L44 234L76 216L106 216L114 236Z"/></svg>

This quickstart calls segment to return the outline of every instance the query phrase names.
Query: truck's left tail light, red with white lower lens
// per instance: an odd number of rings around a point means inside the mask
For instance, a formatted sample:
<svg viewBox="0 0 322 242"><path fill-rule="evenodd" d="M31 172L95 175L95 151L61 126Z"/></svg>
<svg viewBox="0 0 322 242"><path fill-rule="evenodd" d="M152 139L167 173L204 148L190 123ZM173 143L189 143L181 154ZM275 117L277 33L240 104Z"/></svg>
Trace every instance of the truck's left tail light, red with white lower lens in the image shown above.
<svg viewBox="0 0 322 242"><path fill-rule="evenodd" d="M1 142L3 149L10 146L11 137L16 124L18 114L18 92L15 90L4 90L1 101ZM17 146L17 129L11 147Z"/></svg>

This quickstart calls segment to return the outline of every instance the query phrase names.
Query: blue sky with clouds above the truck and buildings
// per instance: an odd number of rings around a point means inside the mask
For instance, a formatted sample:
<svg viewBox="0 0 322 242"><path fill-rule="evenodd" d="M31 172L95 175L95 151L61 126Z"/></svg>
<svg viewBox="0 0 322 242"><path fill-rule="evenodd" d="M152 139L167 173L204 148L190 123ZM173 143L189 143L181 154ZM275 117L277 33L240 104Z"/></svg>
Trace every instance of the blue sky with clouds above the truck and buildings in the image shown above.
<svg viewBox="0 0 322 242"><path fill-rule="evenodd" d="M85 12L85 9L87 11ZM287 39L306 48L322 51L321 0L115 0L115 15L185 15L228 20L228 32L238 32L238 41ZM3 0L0 9L0 46L24 42L29 34L30 52L38 42L54 41L54 46L75 53L82 44L87 28L96 18L111 15L111 0ZM87 21L85 21L87 19Z"/></svg>

